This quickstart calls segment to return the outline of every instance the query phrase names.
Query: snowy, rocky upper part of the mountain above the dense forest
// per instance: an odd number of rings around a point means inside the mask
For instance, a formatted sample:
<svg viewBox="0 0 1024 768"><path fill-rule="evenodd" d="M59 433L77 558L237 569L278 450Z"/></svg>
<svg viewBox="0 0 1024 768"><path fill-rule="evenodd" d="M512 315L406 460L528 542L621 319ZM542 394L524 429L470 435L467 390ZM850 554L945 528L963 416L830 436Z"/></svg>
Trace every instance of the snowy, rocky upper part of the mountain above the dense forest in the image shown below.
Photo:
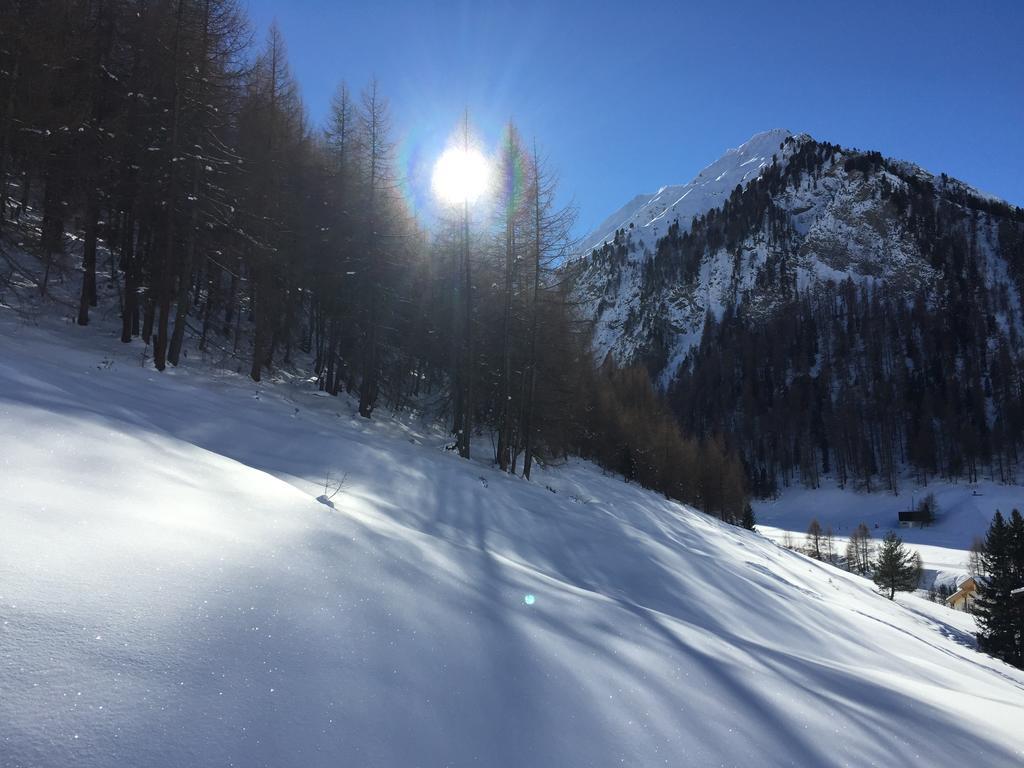
<svg viewBox="0 0 1024 768"><path fill-rule="evenodd" d="M894 202L921 194L958 211L985 290L1008 294L1000 323L1019 328L1024 256L1016 230L1000 227L1024 220L1020 209L909 162L773 130L688 184L635 198L584 239L575 292L582 315L595 321L595 352L645 362L667 386L706 317L720 318L726 306L770 311L780 296L847 279L931 291L941 269ZM694 217L721 220L730 200L729 242L703 244L681 274L672 263L679 239Z"/></svg>

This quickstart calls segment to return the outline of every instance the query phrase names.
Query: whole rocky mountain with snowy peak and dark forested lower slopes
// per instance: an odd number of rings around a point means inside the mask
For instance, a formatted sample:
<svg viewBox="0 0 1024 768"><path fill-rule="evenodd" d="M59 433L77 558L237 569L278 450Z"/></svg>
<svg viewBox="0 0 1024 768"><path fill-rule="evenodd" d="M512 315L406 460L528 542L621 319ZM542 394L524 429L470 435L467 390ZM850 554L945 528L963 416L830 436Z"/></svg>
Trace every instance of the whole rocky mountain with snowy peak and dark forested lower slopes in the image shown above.
<svg viewBox="0 0 1024 768"><path fill-rule="evenodd" d="M644 366L684 428L727 435L758 493L895 490L907 468L1016 479L1020 208L769 131L584 243L572 290L598 358Z"/></svg>

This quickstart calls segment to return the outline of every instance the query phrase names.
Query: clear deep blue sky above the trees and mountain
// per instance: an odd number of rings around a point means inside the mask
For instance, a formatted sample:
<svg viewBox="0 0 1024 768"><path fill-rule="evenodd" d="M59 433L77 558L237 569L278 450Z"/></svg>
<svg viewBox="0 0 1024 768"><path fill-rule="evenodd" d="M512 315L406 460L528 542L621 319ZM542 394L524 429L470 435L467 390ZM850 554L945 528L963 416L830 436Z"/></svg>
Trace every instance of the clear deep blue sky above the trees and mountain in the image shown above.
<svg viewBox="0 0 1024 768"><path fill-rule="evenodd" d="M388 97L411 198L468 108L512 118L580 234L752 134L806 131L1024 206L1024 2L242 0L276 18L314 122L344 79Z"/></svg>

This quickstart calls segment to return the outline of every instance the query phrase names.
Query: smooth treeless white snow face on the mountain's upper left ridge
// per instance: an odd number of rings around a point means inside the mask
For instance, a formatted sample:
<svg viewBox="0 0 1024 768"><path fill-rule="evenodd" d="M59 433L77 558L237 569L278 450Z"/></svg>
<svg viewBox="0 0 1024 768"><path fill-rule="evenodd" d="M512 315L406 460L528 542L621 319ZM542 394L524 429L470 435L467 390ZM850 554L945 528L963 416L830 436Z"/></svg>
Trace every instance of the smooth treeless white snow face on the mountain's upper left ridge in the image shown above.
<svg viewBox="0 0 1024 768"><path fill-rule="evenodd" d="M616 229L631 226L635 237L653 246L673 221L688 225L694 216L722 205L736 184L757 178L771 165L773 155L783 154L781 144L791 135L784 128L758 133L736 148L727 150L689 183L663 186L653 195L638 195L584 238L580 252L590 253L610 242Z"/></svg>

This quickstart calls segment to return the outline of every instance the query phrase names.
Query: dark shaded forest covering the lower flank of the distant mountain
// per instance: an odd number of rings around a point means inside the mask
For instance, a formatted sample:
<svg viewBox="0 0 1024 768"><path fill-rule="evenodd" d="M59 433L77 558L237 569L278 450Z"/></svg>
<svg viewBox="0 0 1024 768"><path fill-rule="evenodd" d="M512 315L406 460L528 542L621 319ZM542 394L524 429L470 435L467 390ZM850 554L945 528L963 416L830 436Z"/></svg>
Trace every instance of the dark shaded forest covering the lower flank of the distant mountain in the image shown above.
<svg viewBox="0 0 1024 768"><path fill-rule="evenodd" d="M1024 377L1013 326L980 294L956 311L887 284L826 284L769 317L709 316L671 398L684 428L726 432L754 492L799 482L900 489L983 474L1015 482Z"/></svg>

